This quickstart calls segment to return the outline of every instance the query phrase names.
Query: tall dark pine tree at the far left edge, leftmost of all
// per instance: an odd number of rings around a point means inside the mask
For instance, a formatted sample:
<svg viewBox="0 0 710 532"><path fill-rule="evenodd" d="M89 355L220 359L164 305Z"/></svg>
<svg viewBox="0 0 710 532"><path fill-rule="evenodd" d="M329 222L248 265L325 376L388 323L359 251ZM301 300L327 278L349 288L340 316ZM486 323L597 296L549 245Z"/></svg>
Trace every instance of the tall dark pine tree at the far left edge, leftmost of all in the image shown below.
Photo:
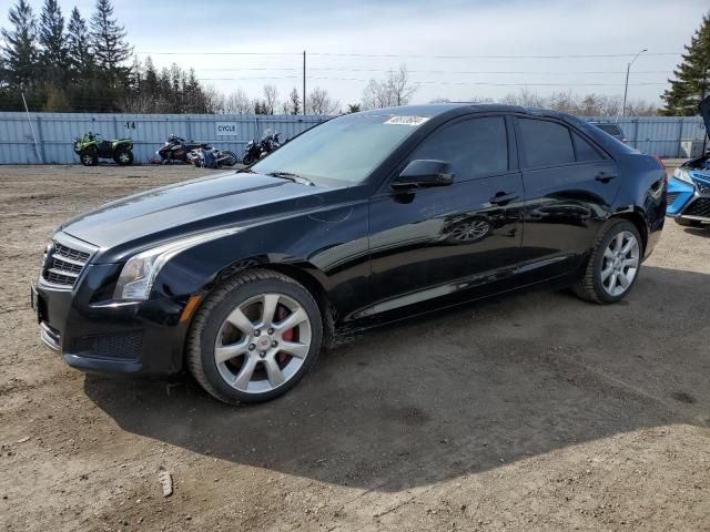
<svg viewBox="0 0 710 532"><path fill-rule="evenodd" d="M2 30L4 47L2 57L9 71L8 81L13 86L32 88L37 80L37 22L27 0L18 0L8 13L11 30Z"/></svg>

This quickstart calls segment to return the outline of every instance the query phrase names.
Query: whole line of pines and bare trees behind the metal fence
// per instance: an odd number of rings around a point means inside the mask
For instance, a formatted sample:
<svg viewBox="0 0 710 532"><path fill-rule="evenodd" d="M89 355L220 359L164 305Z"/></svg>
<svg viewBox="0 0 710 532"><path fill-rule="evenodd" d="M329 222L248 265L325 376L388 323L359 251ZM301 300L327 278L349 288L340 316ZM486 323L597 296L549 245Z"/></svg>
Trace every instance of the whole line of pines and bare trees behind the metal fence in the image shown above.
<svg viewBox="0 0 710 532"><path fill-rule="evenodd" d="M204 86L194 70L178 64L156 69L151 58L133 55L126 31L113 17L111 0L97 0L85 19L74 7L64 18L58 0L44 0L36 16L27 0L16 0L9 11L9 28L2 29L0 49L0 110L24 109L50 112L303 114L303 94L296 88L280 99L276 86L266 84L251 98L243 89L223 94ZM697 114L698 101L709 93L710 20L692 37L682 62L662 95L665 106L637 100L627 103L629 115ZM371 80L361 102L342 105L326 89L307 94L307 114L339 114L366 109L406 105L418 85L406 65L390 70L383 80ZM448 101L436 99L434 102ZM490 98L473 98L493 102ZM511 93L501 103L548 108L577 115L616 116L620 95L571 91L539 95L527 89ZM434 103L432 102L432 103Z"/></svg>

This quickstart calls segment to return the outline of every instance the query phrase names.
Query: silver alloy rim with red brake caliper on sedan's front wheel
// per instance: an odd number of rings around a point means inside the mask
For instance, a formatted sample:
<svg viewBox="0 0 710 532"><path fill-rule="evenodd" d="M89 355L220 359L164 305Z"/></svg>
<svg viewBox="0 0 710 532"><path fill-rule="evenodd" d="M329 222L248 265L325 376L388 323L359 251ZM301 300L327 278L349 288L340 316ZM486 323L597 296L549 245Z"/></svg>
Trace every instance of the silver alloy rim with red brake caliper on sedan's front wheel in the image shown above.
<svg viewBox="0 0 710 532"><path fill-rule="evenodd" d="M287 382L311 349L311 320L284 294L246 299L222 323L214 361L224 381L245 393L264 393Z"/></svg>

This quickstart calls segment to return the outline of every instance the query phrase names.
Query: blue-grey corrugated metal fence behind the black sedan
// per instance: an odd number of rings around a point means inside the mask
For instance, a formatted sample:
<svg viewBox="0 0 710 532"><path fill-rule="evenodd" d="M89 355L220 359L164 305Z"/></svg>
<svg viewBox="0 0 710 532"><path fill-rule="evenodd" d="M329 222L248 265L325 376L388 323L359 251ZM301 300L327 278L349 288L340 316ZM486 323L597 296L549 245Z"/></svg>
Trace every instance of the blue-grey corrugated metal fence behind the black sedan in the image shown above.
<svg viewBox="0 0 710 532"><path fill-rule="evenodd" d="M241 157L244 145L271 129L285 141L329 116L231 115L231 114L94 114L94 113L0 113L0 164L75 164L74 136L88 131L104 139L133 140L135 161L146 163L171 134L232 150ZM616 122L627 142L645 153L681 156L682 141L704 136L700 116L585 117ZM31 123L31 127L30 127ZM229 125L219 131L217 126ZM233 129L233 131L232 131ZM227 130L227 131L224 131ZM37 137L36 150L32 131Z"/></svg>

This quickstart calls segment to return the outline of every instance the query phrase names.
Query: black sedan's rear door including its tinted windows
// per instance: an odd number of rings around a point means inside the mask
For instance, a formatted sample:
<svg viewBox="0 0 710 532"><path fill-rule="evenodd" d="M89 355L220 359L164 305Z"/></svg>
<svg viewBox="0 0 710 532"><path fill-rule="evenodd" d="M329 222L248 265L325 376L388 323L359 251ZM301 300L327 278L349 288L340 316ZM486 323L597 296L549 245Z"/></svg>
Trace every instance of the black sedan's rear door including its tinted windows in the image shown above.
<svg viewBox="0 0 710 532"><path fill-rule="evenodd" d="M525 184L523 247L530 272L557 276L591 248L619 191L615 161L561 121L516 119Z"/></svg>

